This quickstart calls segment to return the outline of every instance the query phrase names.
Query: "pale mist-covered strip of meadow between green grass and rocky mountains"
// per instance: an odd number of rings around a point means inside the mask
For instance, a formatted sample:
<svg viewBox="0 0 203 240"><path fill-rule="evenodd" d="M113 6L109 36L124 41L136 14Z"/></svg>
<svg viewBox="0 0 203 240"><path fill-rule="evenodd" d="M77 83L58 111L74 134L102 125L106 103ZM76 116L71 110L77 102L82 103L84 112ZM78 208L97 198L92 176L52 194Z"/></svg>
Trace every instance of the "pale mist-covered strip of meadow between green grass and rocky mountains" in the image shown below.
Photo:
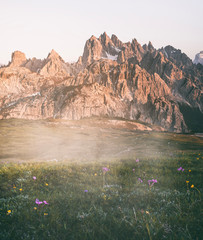
<svg viewBox="0 0 203 240"><path fill-rule="evenodd" d="M106 121L106 122L105 122ZM90 162L173 156L203 147L198 136L134 131L104 120L0 121L0 162Z"/></svg>

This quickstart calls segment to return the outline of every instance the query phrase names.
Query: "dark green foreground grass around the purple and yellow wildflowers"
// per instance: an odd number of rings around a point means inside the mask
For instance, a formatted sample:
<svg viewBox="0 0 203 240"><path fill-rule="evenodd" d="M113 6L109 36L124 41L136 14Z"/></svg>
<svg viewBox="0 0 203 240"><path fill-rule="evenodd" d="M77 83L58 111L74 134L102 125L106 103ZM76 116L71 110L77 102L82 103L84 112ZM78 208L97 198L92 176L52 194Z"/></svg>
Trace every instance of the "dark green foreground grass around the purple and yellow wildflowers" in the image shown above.
<svg viewBox="0 0 203 240"><path fill-rule="evenodd" d="M2 164L0 239L202 239L202 156Z"/></svg>

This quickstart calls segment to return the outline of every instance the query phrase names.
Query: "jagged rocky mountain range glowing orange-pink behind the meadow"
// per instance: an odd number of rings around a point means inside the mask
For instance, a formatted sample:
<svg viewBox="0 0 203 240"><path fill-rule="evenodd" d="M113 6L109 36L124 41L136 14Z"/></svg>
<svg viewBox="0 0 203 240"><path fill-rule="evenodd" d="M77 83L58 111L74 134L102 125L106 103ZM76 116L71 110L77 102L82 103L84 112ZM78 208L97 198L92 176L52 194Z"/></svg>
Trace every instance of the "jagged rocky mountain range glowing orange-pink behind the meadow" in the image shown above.
<svg viewBox="0 0 203 240"><path fill-rule="evenodd" d="M165 130L203 131L203 69L180 50L156 50L115 35L92 36L69 64L52 50L44 60L14 52L0 68L0 118L78 120L119 117Z"/></svg>

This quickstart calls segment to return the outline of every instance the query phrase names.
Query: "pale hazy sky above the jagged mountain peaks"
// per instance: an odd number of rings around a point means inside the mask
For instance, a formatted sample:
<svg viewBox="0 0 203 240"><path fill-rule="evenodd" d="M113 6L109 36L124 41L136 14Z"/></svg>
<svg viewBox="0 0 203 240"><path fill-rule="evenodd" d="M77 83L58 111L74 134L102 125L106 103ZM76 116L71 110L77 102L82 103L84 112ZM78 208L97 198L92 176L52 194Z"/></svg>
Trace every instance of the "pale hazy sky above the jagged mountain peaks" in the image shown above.
<svg viewBox="0 0 203 240"><path fill-rule="evenodd" d="M172 45L190 58L203 50L202 0L0 0L0 62L14 50L65 61L83 53L91 35L104 31L160 48Z"/></svg>

